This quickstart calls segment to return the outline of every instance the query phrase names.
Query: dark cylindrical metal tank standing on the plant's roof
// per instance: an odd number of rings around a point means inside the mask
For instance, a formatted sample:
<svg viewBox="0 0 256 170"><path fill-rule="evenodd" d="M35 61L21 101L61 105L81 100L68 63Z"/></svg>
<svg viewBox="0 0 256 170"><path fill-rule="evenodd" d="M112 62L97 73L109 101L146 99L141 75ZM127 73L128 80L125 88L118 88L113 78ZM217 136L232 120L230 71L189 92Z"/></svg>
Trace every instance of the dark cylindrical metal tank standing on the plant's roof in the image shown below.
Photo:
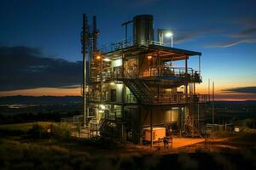
<svg viewBox="0 0 256 170"><path fill-rule="evenodd" d="M153 16L141 14L133 18L133 45L148 45L154 40Z"/></svg>

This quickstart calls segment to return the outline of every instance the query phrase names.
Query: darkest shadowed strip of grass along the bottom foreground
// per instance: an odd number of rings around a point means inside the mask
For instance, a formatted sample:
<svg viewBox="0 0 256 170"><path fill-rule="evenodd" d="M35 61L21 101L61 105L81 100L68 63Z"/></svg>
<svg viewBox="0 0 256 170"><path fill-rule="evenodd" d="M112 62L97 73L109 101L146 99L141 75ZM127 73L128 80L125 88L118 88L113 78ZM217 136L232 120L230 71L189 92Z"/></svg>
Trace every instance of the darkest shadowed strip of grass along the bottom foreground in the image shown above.
<svg viewBox="0 0 256 170"><path fill-rule="evenodd" d="M255 155L249 150L234 153L197 151L165 155L92 155L61 146L20 144L0 139L0 169L255 169L255 162Z"/></svg>

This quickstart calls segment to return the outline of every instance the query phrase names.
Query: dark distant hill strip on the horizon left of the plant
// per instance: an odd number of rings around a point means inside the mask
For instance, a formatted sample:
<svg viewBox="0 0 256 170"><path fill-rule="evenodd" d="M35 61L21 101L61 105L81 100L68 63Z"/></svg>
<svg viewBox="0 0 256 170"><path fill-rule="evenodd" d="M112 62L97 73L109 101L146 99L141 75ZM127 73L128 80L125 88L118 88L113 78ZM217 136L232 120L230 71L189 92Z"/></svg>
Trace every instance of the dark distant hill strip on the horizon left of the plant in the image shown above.
<svg viewBox="0 0 256 170"><path fill-rule="evenodd" d="M58 105L82 103L81 96L6 96L0 97L0 105Z"/></svg>

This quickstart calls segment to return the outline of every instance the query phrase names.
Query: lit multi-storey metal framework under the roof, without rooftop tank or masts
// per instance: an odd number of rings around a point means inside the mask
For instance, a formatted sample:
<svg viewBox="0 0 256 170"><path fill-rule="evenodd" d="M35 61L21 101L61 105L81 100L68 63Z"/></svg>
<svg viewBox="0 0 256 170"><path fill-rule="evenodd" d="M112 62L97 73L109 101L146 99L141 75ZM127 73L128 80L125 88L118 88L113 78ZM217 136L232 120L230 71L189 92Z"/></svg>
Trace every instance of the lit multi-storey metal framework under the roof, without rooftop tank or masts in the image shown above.
<svg viewBox="0 0 256 170"><path fill-rule="evenodd" d="M143 140L143 129L148 126L176 127L179 135L201 135L209 95L195 92L201 71L200 63L198 70L188 66L194 55L200 62L201 53L154 44L102 53L90 77L89 98L90 111L101 114L100 133L134 142ZM176 61L184 61L184 66L176 67ZM160 111L176 116L154 120L157 115L166 116Z"/></svg>

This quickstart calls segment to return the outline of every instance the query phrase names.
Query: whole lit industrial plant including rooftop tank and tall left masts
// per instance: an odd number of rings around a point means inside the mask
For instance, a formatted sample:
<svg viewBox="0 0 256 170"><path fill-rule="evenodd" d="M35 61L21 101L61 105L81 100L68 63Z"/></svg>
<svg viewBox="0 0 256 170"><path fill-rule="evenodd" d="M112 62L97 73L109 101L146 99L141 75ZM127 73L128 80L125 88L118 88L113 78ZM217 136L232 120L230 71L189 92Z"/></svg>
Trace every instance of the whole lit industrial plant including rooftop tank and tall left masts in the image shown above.
<svg viewBox="0 0 256 170"><path fill-rule="evenodd" d="M152 145L172 135L202 137L210 96L197 93L196 86L202 82L201 52L173 48L173 42L166 46L165 37L172 38L173 33L154 32L150 14L137 15L122 26L123 41L99 48L96 16L89 26L83 15L84 115L61 121L79 124L86 138L101 136L136 144ZM189 66L190 58L197 59L196 68Z"/></svg>

